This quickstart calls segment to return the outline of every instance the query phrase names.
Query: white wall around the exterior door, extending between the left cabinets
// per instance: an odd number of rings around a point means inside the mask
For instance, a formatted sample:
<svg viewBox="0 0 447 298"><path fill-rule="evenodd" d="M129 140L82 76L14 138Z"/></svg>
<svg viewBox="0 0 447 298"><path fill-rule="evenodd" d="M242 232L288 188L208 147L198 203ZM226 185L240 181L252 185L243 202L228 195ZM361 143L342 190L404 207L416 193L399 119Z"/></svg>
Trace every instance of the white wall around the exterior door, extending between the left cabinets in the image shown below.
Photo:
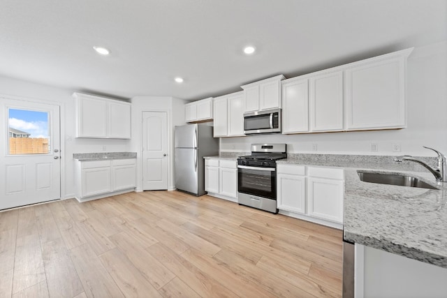
<svg viewBox="0 0 447 298"><path fill-rule="evenodd" d="M3 98L20 98L61 106L62 198L73 198L75 194L73 153L130 151L131 149L130 140L75 138L75 100L71 96L74 91L0 76L0 96ZM6 115L1 115L0 119L3 117ZM0 121L0 129L6 131L5 124L6 121ZM7 142L1 140L0 144L7 144ZM103 150L104 146L105 150ZM0 158L6 156L6 150L5 145L0 146Z"/></svg>

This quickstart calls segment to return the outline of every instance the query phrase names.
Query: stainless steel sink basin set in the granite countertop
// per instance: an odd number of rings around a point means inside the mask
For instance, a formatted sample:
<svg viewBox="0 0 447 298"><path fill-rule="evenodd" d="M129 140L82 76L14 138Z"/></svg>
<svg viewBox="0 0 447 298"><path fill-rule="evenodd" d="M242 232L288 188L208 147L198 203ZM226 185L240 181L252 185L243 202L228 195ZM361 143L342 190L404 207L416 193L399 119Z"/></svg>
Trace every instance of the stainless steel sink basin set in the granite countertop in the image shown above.
<svg viewBox="0 0 447 298"><path fill-rule="evenodd" d="M358 172L358 177L360 177L360 180L370 183L438 189L416 177L400 175L400 174Z"/></svg>

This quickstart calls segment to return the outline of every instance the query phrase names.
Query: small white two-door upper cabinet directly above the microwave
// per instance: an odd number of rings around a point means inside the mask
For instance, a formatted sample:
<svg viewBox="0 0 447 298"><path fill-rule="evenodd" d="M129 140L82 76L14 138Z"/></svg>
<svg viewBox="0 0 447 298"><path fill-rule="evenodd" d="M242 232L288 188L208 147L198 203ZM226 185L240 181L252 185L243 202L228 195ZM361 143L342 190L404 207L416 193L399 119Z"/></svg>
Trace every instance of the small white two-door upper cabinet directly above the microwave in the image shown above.
<svg viewBox="0 0 447 298"><path fill-rule="evenodd" d="M242 86L244 89L244 112L281 107L281 80L284 78L284 75L277 75Z"/></svg>

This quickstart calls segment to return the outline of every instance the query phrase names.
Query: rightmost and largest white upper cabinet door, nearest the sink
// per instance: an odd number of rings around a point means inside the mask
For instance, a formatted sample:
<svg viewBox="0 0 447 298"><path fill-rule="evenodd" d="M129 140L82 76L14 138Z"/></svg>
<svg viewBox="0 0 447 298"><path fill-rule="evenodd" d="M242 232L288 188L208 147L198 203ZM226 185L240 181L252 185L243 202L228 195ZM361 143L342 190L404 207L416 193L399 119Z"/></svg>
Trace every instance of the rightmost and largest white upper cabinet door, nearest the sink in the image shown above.
<svg viewBox="0 0 447 298"><path fill-rule="evenodd" d="M348 130L405 127L404 62L399 57L346 70Z"/></svg>

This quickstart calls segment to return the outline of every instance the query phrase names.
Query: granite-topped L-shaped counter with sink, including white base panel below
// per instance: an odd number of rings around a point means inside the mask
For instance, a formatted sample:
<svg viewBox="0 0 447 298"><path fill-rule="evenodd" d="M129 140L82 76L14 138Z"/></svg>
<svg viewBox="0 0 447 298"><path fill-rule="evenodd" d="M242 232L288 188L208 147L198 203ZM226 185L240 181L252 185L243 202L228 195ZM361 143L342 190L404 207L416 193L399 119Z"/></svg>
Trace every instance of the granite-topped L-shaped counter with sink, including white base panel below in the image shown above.
<svg viewBox="0 0 447 298"><path fill-rule="evenodd" d="M393 159L289 154L278 163L344 169L344 240L355 243L356 297L446 297L447 186L424 167ZM404 173L439 189L364 182L358 170Z"/></svg>

